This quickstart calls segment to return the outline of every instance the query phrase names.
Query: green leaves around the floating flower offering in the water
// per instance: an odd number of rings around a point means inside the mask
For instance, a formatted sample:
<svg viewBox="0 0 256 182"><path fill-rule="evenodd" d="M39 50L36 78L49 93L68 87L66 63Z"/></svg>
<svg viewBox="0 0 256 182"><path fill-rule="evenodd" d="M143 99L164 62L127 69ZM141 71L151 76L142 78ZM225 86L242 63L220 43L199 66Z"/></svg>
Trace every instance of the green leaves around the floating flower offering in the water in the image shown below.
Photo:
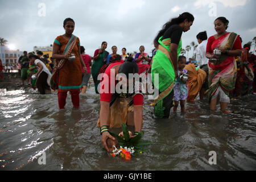
<svg viewBox="0 0 256 182"><path fill-rule="evenodd" d="M134 151L135 151L134 154L139 154L139 152L146 150L145 148L146 146L149 146L150 144L152 144L151 142L141 140L144 135L143 131L139 133L136 137L130 138L129 130L125 125L125 123L122 123L122 130L123 130L123 138L119 137L117 134L110 133L110 135L117 138L118 147L121 147L121 146L123 148L134 147Z"/></svg>

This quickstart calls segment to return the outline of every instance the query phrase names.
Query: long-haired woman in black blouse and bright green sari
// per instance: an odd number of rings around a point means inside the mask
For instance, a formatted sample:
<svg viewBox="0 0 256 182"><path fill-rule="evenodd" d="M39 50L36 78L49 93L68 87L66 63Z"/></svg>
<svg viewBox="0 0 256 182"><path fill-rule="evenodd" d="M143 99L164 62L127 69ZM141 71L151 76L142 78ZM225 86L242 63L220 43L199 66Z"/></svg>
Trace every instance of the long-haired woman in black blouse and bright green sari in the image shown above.
<svg viewBox="0 0 256 182"><path fill-rule="evenodd" d="M159 96L155 98L155 116L169 118L174 97L174 82L177 75L177 57L182 48L181 35L190 30L194 17L190 13L183 13L177 18L164 24L155 40L159 46L153 58L151 74L152 82L159 90Z"/></svg>

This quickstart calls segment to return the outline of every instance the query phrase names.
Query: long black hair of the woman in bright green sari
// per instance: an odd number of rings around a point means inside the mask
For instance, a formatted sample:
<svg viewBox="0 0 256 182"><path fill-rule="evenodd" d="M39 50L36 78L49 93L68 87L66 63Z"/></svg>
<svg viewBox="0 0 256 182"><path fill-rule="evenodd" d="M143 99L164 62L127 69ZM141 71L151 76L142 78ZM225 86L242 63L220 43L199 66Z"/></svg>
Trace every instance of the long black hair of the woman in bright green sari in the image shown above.
<svg viewBox="0 0 256 182"><path fill-rule="evenodd" d="M158 44L158 39L161 36L163 36L164 32L166 32L168 28L170 28L174 24L180 24L180 23L184 22L185 19L187 19L188 22L193 22L195 18L192 14L190 14L188 12L185 12L185 13L179 15L179 17L177 17L177 18L172 18L169 22L164 24L162 30L160 30L158 32L158 35L156 36L154 42Z"/></svg>

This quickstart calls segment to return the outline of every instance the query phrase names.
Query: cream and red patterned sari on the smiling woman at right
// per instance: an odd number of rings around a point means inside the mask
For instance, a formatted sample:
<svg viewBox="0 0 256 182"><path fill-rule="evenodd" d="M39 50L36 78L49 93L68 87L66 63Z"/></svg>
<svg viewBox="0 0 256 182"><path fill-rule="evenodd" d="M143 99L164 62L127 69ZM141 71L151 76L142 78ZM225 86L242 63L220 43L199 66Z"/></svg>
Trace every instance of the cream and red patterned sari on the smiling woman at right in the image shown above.
<svg viewBox="0 0 256 182"><path fill-rule="evenodd" d="M212 51L214 48L224 48L228 51L234 48L234 43L239 39L239 36L234 32L225 34L212 42ZM240 45L241 47L241 45ZM233 56L221 54L217 63L208 63L209 67L209 102L220 87L223 92L229 96L229 93L234 89L237 77L237 63Z"/></svg>

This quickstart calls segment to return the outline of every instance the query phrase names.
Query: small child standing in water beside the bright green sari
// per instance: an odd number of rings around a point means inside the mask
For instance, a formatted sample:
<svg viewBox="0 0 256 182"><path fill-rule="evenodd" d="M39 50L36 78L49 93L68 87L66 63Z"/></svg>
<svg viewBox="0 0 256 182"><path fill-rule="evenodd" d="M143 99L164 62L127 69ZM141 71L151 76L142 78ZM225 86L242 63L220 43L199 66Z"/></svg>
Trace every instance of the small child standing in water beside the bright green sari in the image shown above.
<svg viewBox="0 0 256 182"><path fill-rule="evenodd" d="M187 81L180 80L180 76L183 73L187 73L187 70L184 69L186 65L186 57L185 56L179 56L178 59L178 77L177 80L174 84L174 101L175 101L175 106L174 106L174 111L177 111L177 107L179 106L179 101L180 101L180 106L181 106L181 111L185 112L185 100L187 100L188 97L188 85Z"/></svg>

